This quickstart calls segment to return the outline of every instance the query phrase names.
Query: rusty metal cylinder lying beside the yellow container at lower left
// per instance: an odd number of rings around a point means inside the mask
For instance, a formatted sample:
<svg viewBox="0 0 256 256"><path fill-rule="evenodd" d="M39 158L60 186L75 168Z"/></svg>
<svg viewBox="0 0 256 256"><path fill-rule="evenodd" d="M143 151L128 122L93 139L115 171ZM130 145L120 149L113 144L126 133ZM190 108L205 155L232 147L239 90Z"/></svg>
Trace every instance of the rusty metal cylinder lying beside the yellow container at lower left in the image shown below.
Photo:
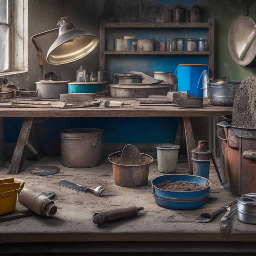
<svg viewBox="0 0 256 256"><path fill-rule="evenodd" d="M18 195L18 202L29 210L44 216L52 217L57 212L57 206L47 196L24 187Z"/></svg>

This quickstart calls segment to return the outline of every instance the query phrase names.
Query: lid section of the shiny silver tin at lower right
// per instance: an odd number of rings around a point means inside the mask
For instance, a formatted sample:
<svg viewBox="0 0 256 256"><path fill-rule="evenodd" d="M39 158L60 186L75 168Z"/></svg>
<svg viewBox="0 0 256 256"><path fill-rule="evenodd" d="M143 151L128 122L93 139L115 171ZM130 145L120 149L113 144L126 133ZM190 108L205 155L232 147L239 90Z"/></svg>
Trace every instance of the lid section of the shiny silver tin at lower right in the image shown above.
<svg viewBox="0 0 256 256"><path fill-rule="evenodd" d="M237 209L256 217L256 194L244 194L237 200Z"/></svg>

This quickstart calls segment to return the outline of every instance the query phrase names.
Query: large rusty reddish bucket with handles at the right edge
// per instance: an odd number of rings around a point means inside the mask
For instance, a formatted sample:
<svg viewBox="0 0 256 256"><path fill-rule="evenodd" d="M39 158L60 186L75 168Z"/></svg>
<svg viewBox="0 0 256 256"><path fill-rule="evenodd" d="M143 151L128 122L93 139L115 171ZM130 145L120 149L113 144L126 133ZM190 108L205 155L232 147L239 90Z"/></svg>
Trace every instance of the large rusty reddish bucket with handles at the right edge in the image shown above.
<svg viewBox="0 0 256 256"><path fill-rule="evenodd" d="M256 129L217 124L224 153L224 182L236 195L256 193Z"/></svg>

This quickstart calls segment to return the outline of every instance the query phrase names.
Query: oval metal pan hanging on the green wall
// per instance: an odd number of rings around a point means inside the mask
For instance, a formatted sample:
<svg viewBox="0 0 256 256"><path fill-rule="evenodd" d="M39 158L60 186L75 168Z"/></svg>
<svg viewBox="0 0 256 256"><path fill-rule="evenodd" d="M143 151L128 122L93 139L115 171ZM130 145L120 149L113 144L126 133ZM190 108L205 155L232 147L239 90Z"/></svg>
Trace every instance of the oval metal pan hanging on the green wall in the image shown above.
<svg viewBox="0 0 256 256"><path fill-rule="evenodd" d="M228 48L233 60L241 66L248 66L255 59L256 25L249 16L240 15L232 22Z"/></svg>

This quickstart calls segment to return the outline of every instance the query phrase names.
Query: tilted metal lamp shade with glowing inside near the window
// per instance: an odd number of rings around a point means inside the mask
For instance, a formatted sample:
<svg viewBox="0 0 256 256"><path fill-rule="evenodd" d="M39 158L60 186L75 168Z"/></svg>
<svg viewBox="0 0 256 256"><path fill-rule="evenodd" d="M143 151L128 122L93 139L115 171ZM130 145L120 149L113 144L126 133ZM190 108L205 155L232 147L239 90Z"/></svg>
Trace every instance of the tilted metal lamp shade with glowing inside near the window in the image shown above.
<svg viewBox="0 0 256 256"><path fill-rule="evenodd" d="M47 53L47 61L53 65L69 63L89 54L99 43L92 33L72 28L55 40Z"/></svg>

